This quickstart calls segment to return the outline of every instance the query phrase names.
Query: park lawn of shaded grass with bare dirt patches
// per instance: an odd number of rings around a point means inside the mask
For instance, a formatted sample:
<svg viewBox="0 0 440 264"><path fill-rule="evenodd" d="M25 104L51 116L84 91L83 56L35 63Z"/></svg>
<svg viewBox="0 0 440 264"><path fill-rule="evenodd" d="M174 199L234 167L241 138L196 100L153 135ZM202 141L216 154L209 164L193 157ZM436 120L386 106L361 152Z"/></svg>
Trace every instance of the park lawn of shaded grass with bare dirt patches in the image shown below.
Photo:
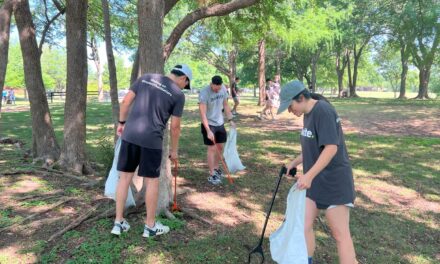
<svg viewBox="0 0 440 264"><path fill-rule="evenodd" d="M194 208L215 224L207 226L186 215L162 221L172 227L169 235L142 239L141 214L130 215L132 230L120 238L110 235L112 219L82 224L54 243L49 236L63 223L29 231L22 240L0 239L0 263L243 263L257 242L281 164L300 151L298 129L301 120L283 114L276 121L257 121L259 107L253 98L243 98L237 120L238 146L246 172L234 175L235 183L213 187L207 183L205 148L201 144L200 122L194 96L187 100L180 143L179 186L195 191L179 197L182 205ZM432 120L440 116L440 102L353 99L332 101L347 125L346 142L353 164L357 190L351 230L361 263L437 263L440 260L440 137ZM51 105L59 142L63 131L63 106ZM241 110L241 111L240 111ZM419 126L395 130L393 126L421 121ZM377 124L379 123L379 124ZM91 161L104 165L98 177L105 176L112 160L112 125L109 104L91 103L87 112L87 151ZM378 125L378 127L372 126ZM426 126L432 127L426 127ZM376 128L376 129L374 129ZM381 129L382 130L381 130ZM411 129L412 128L412 129ZM28 112L4 113L0 120L2 136L31 145ZM12 145L0 145L0 172L33 168L29 159ZM100 168L100 166L98 166ZM85 201L75 203L78 214L93 195L102 193L103 184L86 189L75 182L35 175L1 176L0 193L19 190L20 184L37 182L32 192L56 189ZM268 232L282 222L285 198L293 181L284 179ZM12 197L14 198L14 197ZM3 201L3 200L2 200ZM0 228L19 221L30 208L47 201L1 205ZM50 203L48 201L47 203ZM109 202L110 206L112 202ZM63 213L59 210L58 213ZM325 218L322 217L325 225ZM336 248L326 229L317 223L317 263L336 263ZM20 237L22 234L18 234ZM24 237L24 236L23 236ZM29 239L31 237L32 239ZM5 246L3 246L3 243ZM8 249L9 248L9 249ZM12 248L12 249L11 249ZM13 249L17 252L11 253ZM266 258L270 261L266 241Z"/></svg>

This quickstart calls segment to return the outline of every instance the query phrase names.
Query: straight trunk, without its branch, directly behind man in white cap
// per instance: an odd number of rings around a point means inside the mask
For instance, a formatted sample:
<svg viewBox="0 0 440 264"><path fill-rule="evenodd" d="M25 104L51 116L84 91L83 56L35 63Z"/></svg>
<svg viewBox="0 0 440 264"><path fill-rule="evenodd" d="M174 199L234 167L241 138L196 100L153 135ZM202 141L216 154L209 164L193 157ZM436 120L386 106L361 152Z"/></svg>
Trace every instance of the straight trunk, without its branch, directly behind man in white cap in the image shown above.
<svg viewBox="0 0 440 264"><path fill-rule="evenodd" d="M139 0L139 66L141 73L161 73L164 70L163 58L163 0ZM168 210L172 199L171 164L168 159L169 128L165 129L163 140L162 166L159 178L159 199L156 213Z"/></svg>

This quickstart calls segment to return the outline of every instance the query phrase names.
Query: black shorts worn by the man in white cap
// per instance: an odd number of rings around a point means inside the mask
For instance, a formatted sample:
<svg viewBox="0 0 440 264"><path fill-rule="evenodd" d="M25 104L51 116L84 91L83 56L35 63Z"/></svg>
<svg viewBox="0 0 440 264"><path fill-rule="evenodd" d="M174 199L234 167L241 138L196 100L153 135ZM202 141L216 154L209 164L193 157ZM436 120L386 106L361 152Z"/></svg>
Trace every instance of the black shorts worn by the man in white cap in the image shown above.
<svg viewBox="0 0 440 264"><path fill-rule="evenodd" d="M119 151L118 171L134 172L139 166L138 175L147 178L160 176L162 150L143 148L122 140Z"/></svg>

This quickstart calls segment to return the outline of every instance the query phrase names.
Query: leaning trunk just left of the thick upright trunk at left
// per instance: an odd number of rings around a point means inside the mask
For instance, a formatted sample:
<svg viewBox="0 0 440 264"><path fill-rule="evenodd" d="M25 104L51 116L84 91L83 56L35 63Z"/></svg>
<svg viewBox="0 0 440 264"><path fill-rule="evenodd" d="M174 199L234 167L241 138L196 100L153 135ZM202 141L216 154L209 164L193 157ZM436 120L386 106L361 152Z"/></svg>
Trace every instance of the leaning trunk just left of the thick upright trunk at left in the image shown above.
<svg viewBox="0 0 440 264"><path fill-rule="evenodd" d="M32 151L34 158L51 164L59 157L59 146L52 126L41 73L40 53L35 38L35 27L27 0L16 1L15 21L23 54L26 89L32 115Z"/></svg>

